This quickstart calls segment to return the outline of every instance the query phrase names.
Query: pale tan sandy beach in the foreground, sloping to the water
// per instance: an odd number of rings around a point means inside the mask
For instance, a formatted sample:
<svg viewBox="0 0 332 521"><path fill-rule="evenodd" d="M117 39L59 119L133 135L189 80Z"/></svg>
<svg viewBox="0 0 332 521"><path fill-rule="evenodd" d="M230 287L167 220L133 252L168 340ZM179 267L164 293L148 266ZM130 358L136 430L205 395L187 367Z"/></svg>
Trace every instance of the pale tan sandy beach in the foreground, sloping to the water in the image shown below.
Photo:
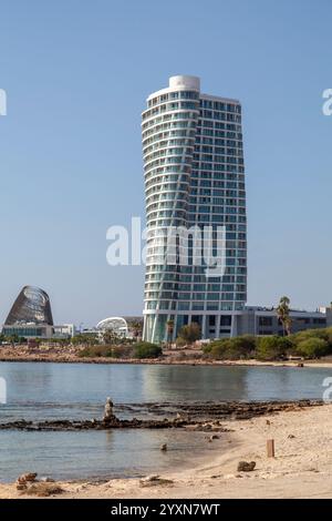
<svg viewBox="0 0 332 521"><path fill-rule="evenodd" d="M63 499L138 498L332 498L332 405L280 412L250 420L225 421L218 450L189 470L163 473L165 482L114 479L107 482L61 482ZM276 441L276 457L266 453ZM227 441L228 449L225 447ZM172 450L172 447L169 447ZM238 472L238 462L256 461L252 472ZM31 469L30 469L31 470ZM0 498L30 498L14 484L1 484ZM34 497L34 496L33 496Z"/></svg>

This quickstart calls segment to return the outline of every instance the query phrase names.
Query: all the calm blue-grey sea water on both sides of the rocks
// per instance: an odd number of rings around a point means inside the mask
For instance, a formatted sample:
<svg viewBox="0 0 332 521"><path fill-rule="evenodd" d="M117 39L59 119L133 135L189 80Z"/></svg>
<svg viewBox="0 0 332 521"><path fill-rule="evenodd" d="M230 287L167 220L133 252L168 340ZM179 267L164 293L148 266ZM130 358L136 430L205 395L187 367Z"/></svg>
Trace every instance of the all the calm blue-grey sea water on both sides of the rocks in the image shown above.
<svg viewBox="0 0 332 521"><path fill-rule="evenodd" d="M322 398L328 376L325 368L0 362L8 389L0 421L98 418L107 396L120 417L146 415L136 405L147 402ZM142 476L187 466L193 450L204 457L221 447L201 432L175 430L0 431L0 481L24 471L55 479Z"/></svg>

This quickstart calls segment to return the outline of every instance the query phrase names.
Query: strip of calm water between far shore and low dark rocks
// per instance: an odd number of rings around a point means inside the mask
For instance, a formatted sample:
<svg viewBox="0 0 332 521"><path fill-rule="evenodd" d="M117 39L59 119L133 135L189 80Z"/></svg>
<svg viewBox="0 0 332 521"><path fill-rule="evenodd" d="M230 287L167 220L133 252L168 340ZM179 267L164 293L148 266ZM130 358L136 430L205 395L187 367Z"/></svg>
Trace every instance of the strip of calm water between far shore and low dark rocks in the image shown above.
<svg viewBox="0 0 332 521"><path fill-rule="evenodd" d="M65 416L85 417L101 413L107 396L115 403L321 398L322 380L331 372L290 367L1 362L8 406L0 413L15 407L15 413L24 416L25 407L40 403L43 415L53 415L54 408L59 417L66 405Z"/></svg>

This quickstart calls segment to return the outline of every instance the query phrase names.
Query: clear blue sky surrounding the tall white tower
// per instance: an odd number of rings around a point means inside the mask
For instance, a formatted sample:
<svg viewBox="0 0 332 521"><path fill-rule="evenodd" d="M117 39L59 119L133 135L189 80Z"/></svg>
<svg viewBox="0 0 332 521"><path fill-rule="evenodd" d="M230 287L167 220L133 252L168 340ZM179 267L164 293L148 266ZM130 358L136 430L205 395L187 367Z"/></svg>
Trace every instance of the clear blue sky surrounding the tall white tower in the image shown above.
<svg viewBox="0 0 332 521"><path fill-rule="evenodd" d="M0 321L24 284L56 323L138 314L106 228L144 216L141 111L173 74L243 105L249 303L332 300L331 0L1 0Z"/></svg>

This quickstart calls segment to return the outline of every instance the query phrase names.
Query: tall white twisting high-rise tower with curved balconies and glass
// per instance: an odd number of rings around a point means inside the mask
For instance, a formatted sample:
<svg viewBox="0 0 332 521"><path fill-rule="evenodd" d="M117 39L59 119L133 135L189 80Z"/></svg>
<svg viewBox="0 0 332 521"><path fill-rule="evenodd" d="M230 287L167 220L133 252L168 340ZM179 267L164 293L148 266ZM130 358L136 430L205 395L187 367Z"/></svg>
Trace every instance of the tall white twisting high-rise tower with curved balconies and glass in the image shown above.
<svg viewBox="0 0 332 521"><path fill-rule="evenodd" d="M142 118L147 221L144 339L175 338L191 321L199 324L203 338L236 335L247 299L241 105L203 94L196 76L176 75L167 89L148 96ZM180 258L185 243L179 238L174 258L165 256L165 236L175 227L201 231L201 243L188 234L188 262L186 255ZM205 229L211 231L206 242L211 254L224 259L222 270L208 275Z"/></svg>

